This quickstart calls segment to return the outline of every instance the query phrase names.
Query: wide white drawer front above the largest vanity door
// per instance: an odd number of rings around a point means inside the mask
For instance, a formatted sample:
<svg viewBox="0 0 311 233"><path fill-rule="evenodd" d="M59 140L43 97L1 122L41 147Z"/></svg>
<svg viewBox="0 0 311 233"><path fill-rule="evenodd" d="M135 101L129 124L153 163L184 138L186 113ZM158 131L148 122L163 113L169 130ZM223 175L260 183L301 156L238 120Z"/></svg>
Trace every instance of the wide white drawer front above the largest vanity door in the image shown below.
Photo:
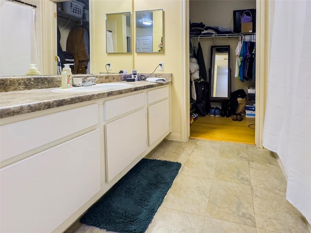
<svg viewBox="0 0 311 233"><path fill-rule="evenodd" d="M92 104L0 127L1 161L35 149L98 123L98 105Z"/></svg>

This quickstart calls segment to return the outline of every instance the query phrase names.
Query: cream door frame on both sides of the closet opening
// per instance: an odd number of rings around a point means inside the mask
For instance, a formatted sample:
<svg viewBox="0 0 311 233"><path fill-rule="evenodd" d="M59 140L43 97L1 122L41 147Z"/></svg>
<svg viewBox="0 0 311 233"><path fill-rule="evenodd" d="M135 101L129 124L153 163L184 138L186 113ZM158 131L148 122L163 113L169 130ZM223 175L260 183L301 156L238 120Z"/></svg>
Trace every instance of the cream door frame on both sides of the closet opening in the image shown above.
<svg viewBox="0 0 311 233"><path fill-rule="evenodd" d="M189 70L189 21L190 9L189 1L183 0L182 9L182 48L184 58L182 59L182 72L185 77L183 81L184 96L182 105L182 141L187 141L190 137L190 74ZM256 117L255 117L255 144L256 148L263 149L262 134L267 100L268 64L269 64L269 1L256 0ZM186 116L186 117L183 117Z"/></svg>

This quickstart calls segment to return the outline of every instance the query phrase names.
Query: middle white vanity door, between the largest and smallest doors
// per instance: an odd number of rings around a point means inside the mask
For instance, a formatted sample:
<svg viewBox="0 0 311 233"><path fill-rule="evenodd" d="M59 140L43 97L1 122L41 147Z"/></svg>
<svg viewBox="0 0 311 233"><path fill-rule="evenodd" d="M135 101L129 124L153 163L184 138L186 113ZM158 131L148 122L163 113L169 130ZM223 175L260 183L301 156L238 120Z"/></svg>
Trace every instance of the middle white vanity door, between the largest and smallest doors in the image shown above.
<svg viewBox="0 0 311 233"><path fill-rule="evenodd" d="M146 149L146 132L145 109L105 125L108 182Z"/></svg>

